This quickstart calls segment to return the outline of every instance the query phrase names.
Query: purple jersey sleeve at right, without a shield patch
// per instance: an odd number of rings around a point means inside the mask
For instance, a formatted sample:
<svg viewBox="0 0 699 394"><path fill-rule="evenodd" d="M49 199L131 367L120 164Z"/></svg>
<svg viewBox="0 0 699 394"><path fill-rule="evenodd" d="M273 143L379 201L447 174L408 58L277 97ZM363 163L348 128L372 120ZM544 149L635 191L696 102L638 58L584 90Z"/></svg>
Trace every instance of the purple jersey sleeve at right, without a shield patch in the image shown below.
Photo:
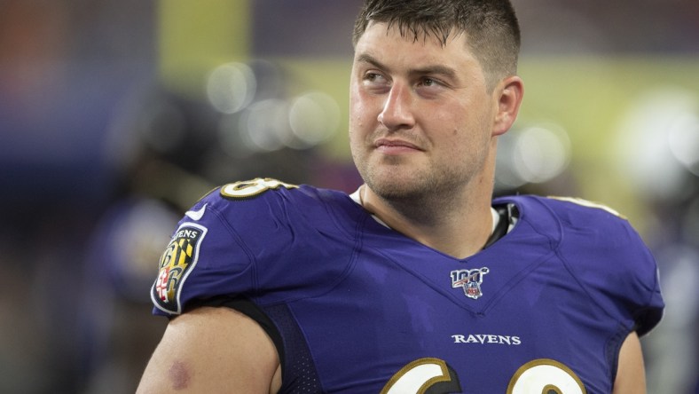
<svg viewBox="0 0 699 394"><path fill-rule="evenodd" d="M587 201L549 200L562 224L562 260L612 317L639 335L660 321L663 298L655 258L627 220ZM581 264L584 262L584 264Z"/></svg>

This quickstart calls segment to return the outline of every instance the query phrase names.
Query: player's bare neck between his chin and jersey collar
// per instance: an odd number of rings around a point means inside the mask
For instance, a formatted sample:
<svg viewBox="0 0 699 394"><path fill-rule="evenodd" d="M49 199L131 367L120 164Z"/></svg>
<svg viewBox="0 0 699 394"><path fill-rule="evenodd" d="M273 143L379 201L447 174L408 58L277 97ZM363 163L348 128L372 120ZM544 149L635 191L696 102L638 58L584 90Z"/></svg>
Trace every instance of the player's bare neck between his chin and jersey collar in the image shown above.
<svg viewBox="0 0 699 394"><path fill-rule="evenodd" d="M477 199L464 198L451 207L444 206L444 200L439 204L419 201L407 205L386 201L366 185L359 196L364 208L385 225L449 256L473 256L491 235L490 193Z"/></svg>

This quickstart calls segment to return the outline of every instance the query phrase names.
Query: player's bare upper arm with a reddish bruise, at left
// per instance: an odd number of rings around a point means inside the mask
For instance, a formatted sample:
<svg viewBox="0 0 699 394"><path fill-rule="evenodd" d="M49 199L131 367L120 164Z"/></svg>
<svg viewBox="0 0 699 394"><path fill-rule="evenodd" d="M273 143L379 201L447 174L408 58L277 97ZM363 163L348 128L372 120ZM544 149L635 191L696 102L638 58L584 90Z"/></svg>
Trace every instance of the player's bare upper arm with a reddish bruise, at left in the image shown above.
<svg viewBox="0 0 699 394"><path fill-rule="evenodd" d="M137 393L276 393L279 356L263 329L229 308L201 307L170 321Z"/></svg>

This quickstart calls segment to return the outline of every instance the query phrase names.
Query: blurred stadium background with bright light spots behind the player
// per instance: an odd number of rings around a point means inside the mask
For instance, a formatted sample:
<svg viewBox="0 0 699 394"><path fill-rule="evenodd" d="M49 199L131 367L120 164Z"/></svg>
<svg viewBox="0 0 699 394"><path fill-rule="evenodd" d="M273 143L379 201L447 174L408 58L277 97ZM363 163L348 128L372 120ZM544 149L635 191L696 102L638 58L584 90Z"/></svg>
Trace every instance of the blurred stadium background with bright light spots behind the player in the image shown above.
<svg viewBox="0 0 699 394"><path fill-rule="evenodd" d="M184 211L277 177L352 192L358 0L0 0L0 392L127 393ZM526 94L496 194L629 217L667 311L650 393L698 393L699 2L514 0Z"/></svg>

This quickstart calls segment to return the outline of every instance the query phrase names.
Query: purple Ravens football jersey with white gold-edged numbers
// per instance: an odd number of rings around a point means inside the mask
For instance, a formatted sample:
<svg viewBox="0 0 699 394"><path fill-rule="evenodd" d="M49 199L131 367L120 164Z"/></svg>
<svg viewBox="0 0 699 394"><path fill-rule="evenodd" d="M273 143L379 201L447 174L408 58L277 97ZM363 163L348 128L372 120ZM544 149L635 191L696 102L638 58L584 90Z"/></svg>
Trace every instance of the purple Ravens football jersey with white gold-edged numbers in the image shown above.
<svg viewBox="0 0 699 394"><path fill-rule="evenodd" d="M611 392L624 338L662 315L648 248L585 201L494 204L514 204L514 229L456 259L345 193L225 185L180 222L153 311L245 300L276 341L281 392Z"/></svg>

